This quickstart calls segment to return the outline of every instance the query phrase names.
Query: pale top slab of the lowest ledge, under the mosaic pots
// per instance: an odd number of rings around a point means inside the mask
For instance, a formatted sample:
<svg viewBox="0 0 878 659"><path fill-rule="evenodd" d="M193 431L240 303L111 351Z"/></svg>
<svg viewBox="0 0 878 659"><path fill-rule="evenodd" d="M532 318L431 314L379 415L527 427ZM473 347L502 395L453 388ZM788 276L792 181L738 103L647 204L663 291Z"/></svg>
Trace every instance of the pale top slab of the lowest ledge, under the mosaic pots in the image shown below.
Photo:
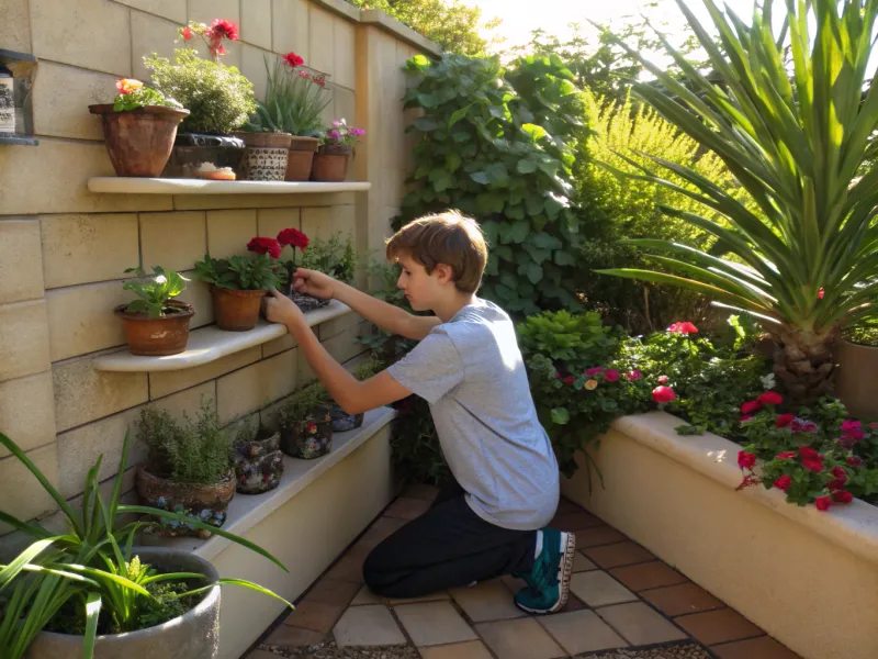
<svg viewBox="0 0 878 659"><path fill-rule="evenodd" d="M370 437L393 421L394 416L396 412L391 407L379 407L367 412L363 425L347 433L334 433L333 450L314 460L283 456L283 476L280 484L262 494L235 494L228 504L223 530L246 537L251 528L365 444ZM190 537L159 538L144 534L142 544L182 549L211 560L228 547L232 540L217 535L201 540Z"/></svg>

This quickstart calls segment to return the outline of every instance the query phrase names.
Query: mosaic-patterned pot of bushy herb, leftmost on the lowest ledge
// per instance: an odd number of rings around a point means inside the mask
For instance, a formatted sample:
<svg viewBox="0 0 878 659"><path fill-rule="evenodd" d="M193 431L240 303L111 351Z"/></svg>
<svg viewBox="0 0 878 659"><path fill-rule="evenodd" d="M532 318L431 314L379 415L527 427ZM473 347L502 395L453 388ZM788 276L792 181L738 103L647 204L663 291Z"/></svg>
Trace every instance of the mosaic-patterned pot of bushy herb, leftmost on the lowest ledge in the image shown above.
<svg viewBox="0 0 878 659"><path fill-rule="evenodd" d="M235 495L235 478L229 471L223 480L210 485L177 483L154 476L146 468L137 470L137 495L143 505L171 513L180 513L211 526L219 527L226 521L228 502ZM161 537L211 537L210 532L187 526L177 520L147 516L151 523L147 533Z"/></svg>

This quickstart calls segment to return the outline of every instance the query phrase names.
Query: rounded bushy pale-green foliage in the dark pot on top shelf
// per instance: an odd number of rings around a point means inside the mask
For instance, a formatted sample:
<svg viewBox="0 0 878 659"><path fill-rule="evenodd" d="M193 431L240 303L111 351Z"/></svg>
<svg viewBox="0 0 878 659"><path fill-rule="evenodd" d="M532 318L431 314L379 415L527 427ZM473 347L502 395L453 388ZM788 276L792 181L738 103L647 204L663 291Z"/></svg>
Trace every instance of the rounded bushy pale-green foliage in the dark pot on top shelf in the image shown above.
<svg viewBox="0 0 878 659"><path fill-rule="evenodd" d="M144 63L156 89L189 110L181 132L226 135L256 112L252 82L234 66L202 59L192 48L176 51L173 63L155 53Z"/></svg>

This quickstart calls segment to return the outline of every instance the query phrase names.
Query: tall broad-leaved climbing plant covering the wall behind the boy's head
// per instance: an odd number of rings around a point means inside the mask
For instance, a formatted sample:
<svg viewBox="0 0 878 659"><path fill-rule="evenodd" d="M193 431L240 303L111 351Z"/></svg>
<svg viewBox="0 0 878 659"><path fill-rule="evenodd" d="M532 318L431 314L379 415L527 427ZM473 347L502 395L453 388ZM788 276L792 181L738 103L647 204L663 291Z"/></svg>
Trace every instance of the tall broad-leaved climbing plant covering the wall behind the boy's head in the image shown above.
<svg viewBox="0 0 878 659"><path fill-rule="evenodd" d="M405 107L423 110L407 129L418 138L410 180L419 185L406 194L397 226L459 209L480 222L491 245L484 297L513 313L576 308L581 238L569 197L584 131L579 90L556 57L511 68L507 75L496 59L457 55L406 63L414 85Z"/></svg>

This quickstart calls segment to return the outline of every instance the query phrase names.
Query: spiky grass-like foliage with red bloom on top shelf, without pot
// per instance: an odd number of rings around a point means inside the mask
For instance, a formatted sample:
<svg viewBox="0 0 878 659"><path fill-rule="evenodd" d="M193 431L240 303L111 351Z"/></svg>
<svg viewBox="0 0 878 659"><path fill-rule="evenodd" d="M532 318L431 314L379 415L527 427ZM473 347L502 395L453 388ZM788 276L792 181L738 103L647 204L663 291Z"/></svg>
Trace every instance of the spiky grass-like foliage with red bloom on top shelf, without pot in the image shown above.
<svg viewBox="0 0 878 659"><path fill-rule="evenodd" d="M333 100L326 89L326 79L300 68L295 53L274 59L269 68L266 58L268 83L264 102L257 101L256 113L245 130L261 133L290 133L301 137L323 136L323 111Z"/></svg>

